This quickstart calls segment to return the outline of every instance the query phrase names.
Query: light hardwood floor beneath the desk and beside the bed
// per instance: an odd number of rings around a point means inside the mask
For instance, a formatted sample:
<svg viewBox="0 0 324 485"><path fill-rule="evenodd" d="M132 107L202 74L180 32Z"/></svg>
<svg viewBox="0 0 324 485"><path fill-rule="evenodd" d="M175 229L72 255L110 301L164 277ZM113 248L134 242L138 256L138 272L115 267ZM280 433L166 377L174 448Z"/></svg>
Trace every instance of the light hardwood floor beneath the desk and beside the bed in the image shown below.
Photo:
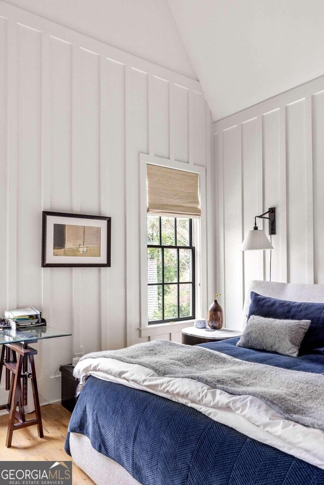
<svg viewBox="0 0 324 485"><path fill-rule="evenodd" d="M6 448L6 435L9 414L0 416L0 461L71 461L71 457L64 451L67 426L71 414L60 404L42 406L44 438L38 438L37 426L14 431L12 446ZM34 413L28 414L28 419ZM72 464L73 485L94 482L82 470Z"/></svg>

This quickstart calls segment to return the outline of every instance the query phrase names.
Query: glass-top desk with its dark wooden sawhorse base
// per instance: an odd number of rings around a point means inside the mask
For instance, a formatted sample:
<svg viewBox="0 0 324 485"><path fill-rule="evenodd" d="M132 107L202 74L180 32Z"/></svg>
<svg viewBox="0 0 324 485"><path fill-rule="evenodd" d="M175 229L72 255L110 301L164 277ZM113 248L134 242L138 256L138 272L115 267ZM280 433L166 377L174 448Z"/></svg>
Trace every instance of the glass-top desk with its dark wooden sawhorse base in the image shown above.
<svg viewBox="0 0 324 485"><path fill-rule="evenodd" d="M0 329L0 382L2 371L6 369L6 390L9 390L8 403L0 406L0 410L9 411L9 423L6 447L11 447L12 435L16 429L37 425L38 436L43 438L41 408L39 407L34 355L37 350L29 347L29 343L45 338L67 337L71 333L63 332L50 325L39 325L14 330ZM35 418L26 420L27 380L31 380ZM18 406L18 411L17 411Z"/></svg>

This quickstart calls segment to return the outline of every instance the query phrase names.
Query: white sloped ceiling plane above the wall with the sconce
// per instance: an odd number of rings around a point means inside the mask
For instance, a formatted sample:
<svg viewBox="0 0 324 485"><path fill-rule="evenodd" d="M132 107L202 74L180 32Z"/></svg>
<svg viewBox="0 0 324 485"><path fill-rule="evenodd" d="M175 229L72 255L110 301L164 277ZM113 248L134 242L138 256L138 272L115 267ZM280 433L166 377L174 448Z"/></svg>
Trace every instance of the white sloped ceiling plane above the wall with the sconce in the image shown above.
<svg viewBox="0 0 324 485"><path fill-rule="evenodd" d="M323 0L168 0L214 120L324 74Z"/></svg>

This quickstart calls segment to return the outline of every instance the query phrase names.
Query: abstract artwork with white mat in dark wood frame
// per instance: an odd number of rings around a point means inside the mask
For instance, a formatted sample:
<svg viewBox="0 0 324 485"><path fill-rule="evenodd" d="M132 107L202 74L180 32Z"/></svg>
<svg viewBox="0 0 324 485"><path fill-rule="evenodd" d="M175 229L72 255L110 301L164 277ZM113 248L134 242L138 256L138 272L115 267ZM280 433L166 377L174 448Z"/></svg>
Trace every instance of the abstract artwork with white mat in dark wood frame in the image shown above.
<svg viewBox="0 0 324 485"><path fill-rule="evenodd" d="M42 268L110 267L111 217L43 211Z"/></svg>

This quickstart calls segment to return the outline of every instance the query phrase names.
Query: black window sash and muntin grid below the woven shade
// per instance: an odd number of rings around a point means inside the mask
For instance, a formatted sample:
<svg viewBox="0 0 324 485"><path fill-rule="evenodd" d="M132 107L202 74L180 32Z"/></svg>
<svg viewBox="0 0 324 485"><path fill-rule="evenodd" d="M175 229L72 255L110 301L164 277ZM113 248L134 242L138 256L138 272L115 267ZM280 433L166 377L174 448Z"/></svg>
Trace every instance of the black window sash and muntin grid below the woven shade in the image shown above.
<svg viewBox="0 0 324 485"><path fill-rule="evenodd" d="M154 217L154 215L147 217ZM155 216L158 217L158 239L159 239L159 244L147 244L147 249L148 248L153 248L153 249L161 249L161 271L162 271L162 278L161 278L161 283L147 283L147 288L149 286L161 286L162 287L162 319L161 320L148 320L148 325L157 325L161 323L170 323L170 322L183 322L186 320L194 320L195 319L195 313L196 313L196 302L195 302L195 293L196 293L196 278L195 278L195 263L196 263L196 257L195 257L195 246L193 245L193 220L191 217L171 217L174 219L174 245L170 244L162 244L162 217L163 216ZM185 218L189 219L189 245L184 246L181 245L179 246L177 244L177 218ZM165 282L164 281L164 251L165 249L176 249L177 250L177 281L176 282ZM180 281L180 259L179 259L179 253L180 249L189 249L191 251L191 280L190 281ZM187 317L180 317L180 285L191 285L191 308L190 308L190 315ZM165 319L164 314L165 314L165 308L164 308L164 293L165 293L165 286L167 285L177 285L178 287L178 292L177 292L177 317L174 318L169 318Z"/></svg>

